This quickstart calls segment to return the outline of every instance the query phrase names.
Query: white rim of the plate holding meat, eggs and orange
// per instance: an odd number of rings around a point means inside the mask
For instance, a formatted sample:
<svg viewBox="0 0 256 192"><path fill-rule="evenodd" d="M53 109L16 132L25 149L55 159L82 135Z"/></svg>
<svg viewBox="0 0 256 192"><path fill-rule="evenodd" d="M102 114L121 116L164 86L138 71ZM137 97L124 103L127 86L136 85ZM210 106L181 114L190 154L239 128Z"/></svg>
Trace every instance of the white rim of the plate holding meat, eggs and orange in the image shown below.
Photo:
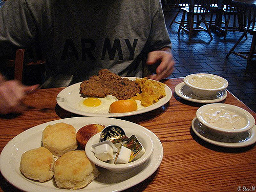
<svg viewBox="0 0 256 192"><path fill-rule="evenodd" d="M135 80L136 78L140 78L141 79L141 77L122 77L122 78L128 78L130 80ZM153 81L155 81L155 80L153 80ZM157 82L159 82L159 81L157 81ZM62 94L64 92L66 92L67 90L71 89L72 87L78 86L78 84L80 84L80 83L81 82L72 84L71 86L61 90L58 93L57 97L63 98ZM62 108L63 110L66 110L68 112L77 114L77 115L90 116L90 117L125 117L125 116L132 116L132 115L138 115L138 114L150 112L150 111L153 111L155 109L160 108L161 106L163 106L164 104L169 102L170 98L172 98L172 96L173 96L172 90L166 84L165 84L165 93L166 93L166 96L161 98L161 99L159 99L159 101L157 103L154 103L153 105L147 106L146 108L143 108L143 109L140 109L140 110L137 110L137 111L133 111L133 112L127 112L127 113L100 114L100 113L83 112L81 110L77 110L77 109L71 107L70 105L66 104L66 102L58 101L57 97L56 97L56 101L57 101L57 104L60 106L60 108Z"/></svg>

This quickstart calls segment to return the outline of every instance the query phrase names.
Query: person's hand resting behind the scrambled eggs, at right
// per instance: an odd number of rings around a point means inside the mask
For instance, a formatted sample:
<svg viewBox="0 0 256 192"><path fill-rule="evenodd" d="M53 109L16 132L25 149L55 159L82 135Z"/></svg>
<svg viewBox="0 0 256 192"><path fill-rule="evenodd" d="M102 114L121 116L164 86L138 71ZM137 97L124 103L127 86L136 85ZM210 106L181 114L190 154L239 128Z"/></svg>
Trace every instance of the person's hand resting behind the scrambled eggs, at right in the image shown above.
<svg viewBox="0 0 256 192"><path fill-rule="evenodd" d="M154 65L160 62L156 69L156 74L148 76L148 78L153 80L161 80L172 74L174 70L174 60L173 54L170 52L169 48L162 49L159 51L152 51L147 55L147 65Z"/></svg>

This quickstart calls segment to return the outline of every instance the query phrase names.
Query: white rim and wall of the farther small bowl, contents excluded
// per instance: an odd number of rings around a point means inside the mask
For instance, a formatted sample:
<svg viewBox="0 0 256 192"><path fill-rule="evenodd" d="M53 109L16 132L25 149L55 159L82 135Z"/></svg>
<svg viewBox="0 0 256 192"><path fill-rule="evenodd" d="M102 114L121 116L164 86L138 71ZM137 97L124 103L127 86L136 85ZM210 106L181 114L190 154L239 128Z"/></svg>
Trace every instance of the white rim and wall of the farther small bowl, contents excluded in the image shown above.
<svg viewBox="0 0 256 192"><path fill-rule="evenodd" d="M216 77L218 80L223 82L223 86L218 89L205 89L205 88L199 88L191 84L191 79L195 76L210 76L210 77ZM228 81L224 79L223 77L220 77L218 75L208 74L208 73L195 73L191 75L187 75L183 79L184 83L193 91L194 95L202 98L210 98L214 97L219 91L224 90L228 87Z"/></svg>

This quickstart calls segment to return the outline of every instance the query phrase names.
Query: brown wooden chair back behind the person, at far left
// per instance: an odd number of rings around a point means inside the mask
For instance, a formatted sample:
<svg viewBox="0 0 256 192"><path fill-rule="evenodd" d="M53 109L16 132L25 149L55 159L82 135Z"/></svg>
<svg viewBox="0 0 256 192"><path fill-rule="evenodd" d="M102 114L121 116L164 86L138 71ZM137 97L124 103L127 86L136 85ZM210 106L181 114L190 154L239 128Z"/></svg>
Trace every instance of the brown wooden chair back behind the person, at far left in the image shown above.
<svg viewBox="0 0 256 192"><path fill-rule="evenodd" d="M15 53L15 58L8 60L7 66L14 67L14 79L24 82L25 67L44 64L45 60L38 58L34 49L18 49Z"/></svg>

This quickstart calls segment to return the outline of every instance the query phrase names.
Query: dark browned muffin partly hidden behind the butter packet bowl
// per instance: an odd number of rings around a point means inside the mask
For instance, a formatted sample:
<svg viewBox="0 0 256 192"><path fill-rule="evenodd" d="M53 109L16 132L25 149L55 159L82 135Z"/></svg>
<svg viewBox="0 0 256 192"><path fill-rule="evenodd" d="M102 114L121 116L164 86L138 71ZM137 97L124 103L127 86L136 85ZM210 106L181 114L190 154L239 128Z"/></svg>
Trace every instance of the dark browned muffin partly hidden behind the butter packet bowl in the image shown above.
<svg viewBox="0 0 256 192"><path fill-rule="evenodd" d="M88 125L83 126L81 129L79 129L76 134L76 139L77 139L80 147L84 150L88 140L95 134L101 132L104 128L105 128L104 125L88 124Z"/></svg>

